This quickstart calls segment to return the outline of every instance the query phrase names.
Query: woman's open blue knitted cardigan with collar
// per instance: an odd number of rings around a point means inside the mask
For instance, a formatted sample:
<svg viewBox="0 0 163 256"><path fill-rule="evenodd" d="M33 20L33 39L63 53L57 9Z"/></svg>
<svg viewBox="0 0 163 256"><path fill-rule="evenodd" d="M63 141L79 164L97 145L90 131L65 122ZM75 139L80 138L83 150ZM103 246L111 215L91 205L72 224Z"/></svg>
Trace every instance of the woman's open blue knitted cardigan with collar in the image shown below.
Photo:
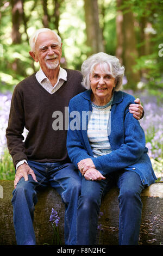
<svg viewBox="0 0 163 256"><path fill-rule="evenodd" d="M124 92L115 92L108 122L111 153L93 157L87 138L87 124L91 106L91 90L74 96L69 103L69 127L67 151L73 164L78 168L80 160L91 158L95 167L103 175L117 170L132 170L140 175L143 185L151 185L156 180L151 161L147 155L145 133L139 121L129 112L129 105L135 98ZM76 129L74 126L76 125ZM110 126L110 129L109 129Z"/></svg>

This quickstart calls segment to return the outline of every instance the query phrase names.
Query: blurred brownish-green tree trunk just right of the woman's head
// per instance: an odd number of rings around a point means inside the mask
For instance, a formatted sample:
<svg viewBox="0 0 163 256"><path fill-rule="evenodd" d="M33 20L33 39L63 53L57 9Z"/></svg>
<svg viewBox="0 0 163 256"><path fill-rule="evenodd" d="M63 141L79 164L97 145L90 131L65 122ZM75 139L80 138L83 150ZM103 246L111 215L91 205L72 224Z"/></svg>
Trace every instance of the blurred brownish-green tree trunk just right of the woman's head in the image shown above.
<svg viewBox="0 0 163 256"><path fill-rule="evenodd" d="M118 59L120 59L121 64L123 64L126 68L125 75L128 81L126 88L136 90L137 83L140 81L140 71L134 72L133 68L133 66L136 64L135 59L139 55L136 48L134 15L129 6L125 8L121 7L123 7L123 0L117 0L116 56Z"/></svg>

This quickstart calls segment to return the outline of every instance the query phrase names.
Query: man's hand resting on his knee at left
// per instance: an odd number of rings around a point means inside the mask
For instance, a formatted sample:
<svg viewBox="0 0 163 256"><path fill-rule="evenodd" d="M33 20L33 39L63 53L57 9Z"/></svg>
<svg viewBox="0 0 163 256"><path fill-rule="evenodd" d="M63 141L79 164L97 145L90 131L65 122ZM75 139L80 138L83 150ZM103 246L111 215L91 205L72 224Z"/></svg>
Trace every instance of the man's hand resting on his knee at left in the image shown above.
<svg viewBox="0 0 163 256"><path fill-rule="evenodd" d="M28 164L27 163L21 164L21 166L19 166L16 170L14 187L16 188L18 181L20 181L22 177L24 177L24 180L27 181L28 174L32 175L32 178L37 182L34 171L28 166Z"/></svg>

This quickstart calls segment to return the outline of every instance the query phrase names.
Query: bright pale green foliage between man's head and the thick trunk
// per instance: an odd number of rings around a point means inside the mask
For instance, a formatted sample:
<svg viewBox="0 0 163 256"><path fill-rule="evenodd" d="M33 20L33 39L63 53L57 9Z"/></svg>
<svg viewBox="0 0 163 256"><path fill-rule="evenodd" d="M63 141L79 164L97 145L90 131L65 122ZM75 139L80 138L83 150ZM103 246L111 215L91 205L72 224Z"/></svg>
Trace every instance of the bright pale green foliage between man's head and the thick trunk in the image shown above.
<svg viewBox="0 0 163 256"><path fill-rule="evenodd" d="M83 1L65 1L60 15L59 31L68 68L81 69L89 47L86 46Z"/></svg>

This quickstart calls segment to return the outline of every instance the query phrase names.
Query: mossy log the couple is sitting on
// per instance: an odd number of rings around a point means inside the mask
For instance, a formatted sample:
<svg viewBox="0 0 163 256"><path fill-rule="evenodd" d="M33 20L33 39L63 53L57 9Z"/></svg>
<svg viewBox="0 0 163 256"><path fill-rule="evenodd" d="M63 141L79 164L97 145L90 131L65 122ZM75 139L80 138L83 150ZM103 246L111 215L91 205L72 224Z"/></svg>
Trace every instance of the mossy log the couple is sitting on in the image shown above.
<svg viewBox="0 0 163 256"><path fill-rule="evenodd" d="M12 191L14 182L0 181L0 245L16 245L15 230L12 220ZM163 184L155 183L143 190L141 194L143 209L140 229L140 245L163 245ZM49 222L52 208L60 217L59 231L64 245L65 205L57 191L49 187L38 195L35 206L34 229L37 245L51 245L53 228ZM102 201L99 218L102 231L98 231L97 243L100 245L118 245L118 189L112 188Z"/></svg>

